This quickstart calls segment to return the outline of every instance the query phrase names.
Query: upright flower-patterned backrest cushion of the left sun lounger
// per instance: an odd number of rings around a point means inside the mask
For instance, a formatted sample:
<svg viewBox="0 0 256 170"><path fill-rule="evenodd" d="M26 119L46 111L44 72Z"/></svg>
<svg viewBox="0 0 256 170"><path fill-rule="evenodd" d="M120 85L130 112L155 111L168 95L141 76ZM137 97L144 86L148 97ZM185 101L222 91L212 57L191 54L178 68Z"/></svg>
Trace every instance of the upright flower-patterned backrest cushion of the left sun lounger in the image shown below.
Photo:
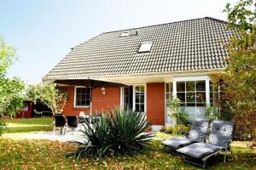
<svg viewBox="0 0 256 170"><path fill-rule="evenodd" d="M195 120L191 126L188 138L200 141L202 136L205 137L207 135L208 126L209 121L206 119Z"/></svg>

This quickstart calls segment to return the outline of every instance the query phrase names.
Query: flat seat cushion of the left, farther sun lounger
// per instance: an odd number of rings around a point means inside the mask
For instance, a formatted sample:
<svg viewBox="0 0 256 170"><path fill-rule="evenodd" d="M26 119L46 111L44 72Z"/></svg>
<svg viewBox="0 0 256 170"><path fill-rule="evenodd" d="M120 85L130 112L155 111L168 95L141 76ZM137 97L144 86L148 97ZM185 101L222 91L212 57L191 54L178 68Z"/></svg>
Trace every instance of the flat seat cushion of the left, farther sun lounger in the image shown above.
<svg viewBox="0 0 256 170"><path fill-rule="evenodd" d="M187 139L187 138L172 138L168 140L164 140L162 144L172 147L174 149L183 147L184 145L192 144L196 142L195 139Z"/></svg>

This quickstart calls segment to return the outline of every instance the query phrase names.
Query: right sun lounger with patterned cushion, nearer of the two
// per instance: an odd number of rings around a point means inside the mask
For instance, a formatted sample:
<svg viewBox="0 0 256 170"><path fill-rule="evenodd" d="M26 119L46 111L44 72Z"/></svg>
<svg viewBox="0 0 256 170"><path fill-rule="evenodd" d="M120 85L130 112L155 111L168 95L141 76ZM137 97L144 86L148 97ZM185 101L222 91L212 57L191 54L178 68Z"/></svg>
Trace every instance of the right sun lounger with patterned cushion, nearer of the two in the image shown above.
<svg viewBox="0 0 256 170"><path fill-rule="evenodd" d="M220 151L224 151L224 162L228 151L233 157L230 143L232 142L235 123L213 121L211 126L211 133L208 136L207 143L189 144L177 150L178 153L191 160L185 161L205 168L207 160L212 156L218 155Z"/></svg>

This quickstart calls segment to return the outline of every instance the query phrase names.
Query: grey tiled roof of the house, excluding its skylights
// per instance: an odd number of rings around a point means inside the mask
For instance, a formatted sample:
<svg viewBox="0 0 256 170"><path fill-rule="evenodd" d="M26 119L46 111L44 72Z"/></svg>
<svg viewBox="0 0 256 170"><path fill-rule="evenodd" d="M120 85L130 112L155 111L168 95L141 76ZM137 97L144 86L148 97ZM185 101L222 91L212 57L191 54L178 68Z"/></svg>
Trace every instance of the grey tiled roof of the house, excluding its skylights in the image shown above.
<svg viewBox="0 0 256 170"><path fill-rule="evenodd" d="M73 48L44 80L224 68L220 40L233 34L226 26L206 17L105 32ZM120 37L124 31L130 36ZM150 52L137 53L142 42L152 42Z"/></svg>

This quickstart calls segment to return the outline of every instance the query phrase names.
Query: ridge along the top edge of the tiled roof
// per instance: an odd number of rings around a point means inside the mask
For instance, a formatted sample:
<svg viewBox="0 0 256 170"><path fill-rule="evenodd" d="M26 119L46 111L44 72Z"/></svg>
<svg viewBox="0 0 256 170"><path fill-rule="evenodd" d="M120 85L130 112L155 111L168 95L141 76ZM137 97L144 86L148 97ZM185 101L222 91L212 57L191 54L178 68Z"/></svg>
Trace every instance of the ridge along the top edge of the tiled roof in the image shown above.
<svg viewBox="0 0 256 170"><path fill-rule="evenodd" d="M202 18L196 18L196 19L189 19L189 20L201 20L201 19L216 20L216 21L219 21L219 22L228 23L225 20L219 20L219 19L216 19L216 18L213 18L213 17L209 17L209 16L202 17ZM189 20L178 20L178 21L167 22L167 23L163 23L163 24L156 24L156 25L151 25L151 26L139 26L139 27L122 29L122 30L116 30L116 31L105 31L105 32L102 32L102 34L108 34L108 33L113 33L113 32L117 32L117 31L129 31L129 30L148 28L148 27L153 27L153 26L165 26L165 25L168 25L168 24L174 24L174 23L178 23L178 22L185 22L185 21L189 21Z"/></svg>

